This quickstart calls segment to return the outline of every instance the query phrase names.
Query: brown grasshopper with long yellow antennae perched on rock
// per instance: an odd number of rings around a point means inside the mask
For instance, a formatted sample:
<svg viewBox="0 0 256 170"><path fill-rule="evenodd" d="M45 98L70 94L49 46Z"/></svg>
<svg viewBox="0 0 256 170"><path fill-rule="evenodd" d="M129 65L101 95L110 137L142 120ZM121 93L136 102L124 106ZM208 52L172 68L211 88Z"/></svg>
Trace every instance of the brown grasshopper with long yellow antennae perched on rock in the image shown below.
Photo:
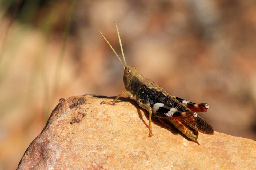
<svg viewBox="0 0 256 170"><path fill-rule="evenodd" d="M198 131L204 134L213 135L213 127L197 114L197 112L207 111L209 108L207 103L192 103L187 100L172 96L158 84L139 74L135 66L126 65L118 27L116 23L115 25L124 64L107 39L99 30L98 31L109 44L110 48L113 50L123 66L123 82L126 90L122 91L113 101L102 101L101 104L114 104L122 95L127 95L129 97L136 96L136 100L139 106L149 112L149 137L153 136L151 125L152 113L165 126L171 128L171 126L168 124L168 122L170 122L179 131L181 131L184 135L193 141L197 140Z"/></svg>

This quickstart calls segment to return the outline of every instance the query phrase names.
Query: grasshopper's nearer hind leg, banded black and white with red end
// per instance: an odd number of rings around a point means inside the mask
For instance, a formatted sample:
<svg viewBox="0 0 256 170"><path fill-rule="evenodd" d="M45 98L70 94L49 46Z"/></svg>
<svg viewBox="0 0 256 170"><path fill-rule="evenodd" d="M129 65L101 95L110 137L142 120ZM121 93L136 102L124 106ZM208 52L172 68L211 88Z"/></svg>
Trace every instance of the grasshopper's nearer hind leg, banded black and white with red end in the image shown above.
<svg viewBox="0 0 256 170"><path fill-rule="evenodd" d="M154 103L152 113L159 118L179 118L183 120L193 120L197 117L197 112L183 112L176 108L169 107L163 103Z"/></svg>

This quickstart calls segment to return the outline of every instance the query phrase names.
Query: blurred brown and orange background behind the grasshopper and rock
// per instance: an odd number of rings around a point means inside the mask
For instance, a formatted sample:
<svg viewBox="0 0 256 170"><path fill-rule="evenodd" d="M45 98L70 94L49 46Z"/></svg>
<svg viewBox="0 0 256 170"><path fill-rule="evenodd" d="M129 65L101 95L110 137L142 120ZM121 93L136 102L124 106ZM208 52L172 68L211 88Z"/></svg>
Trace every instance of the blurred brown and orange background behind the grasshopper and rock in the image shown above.
<svg viewBox="0 0 256 170"><path fill-rule="evenodd" d="M0 170L17 168L59 98L124 90L97 30L121 56L114 22L127 65L173 96L209 103L199 114L215 131L256 140L256 1L0 4Z"/></svg>

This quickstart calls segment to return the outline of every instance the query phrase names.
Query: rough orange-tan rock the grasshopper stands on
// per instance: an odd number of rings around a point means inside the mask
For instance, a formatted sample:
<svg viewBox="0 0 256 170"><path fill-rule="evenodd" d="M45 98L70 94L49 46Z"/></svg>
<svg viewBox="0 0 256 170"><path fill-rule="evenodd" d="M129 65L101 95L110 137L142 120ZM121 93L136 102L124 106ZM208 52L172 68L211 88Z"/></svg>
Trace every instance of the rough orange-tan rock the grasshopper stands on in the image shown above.
<svg viewBox="0 0 256 170"><path fill-rule="evenodd" d="M256 169L255 141L215 132L194 142L157 119L148 137L147 111L121 100L60 99L18 169Z"/></svg>

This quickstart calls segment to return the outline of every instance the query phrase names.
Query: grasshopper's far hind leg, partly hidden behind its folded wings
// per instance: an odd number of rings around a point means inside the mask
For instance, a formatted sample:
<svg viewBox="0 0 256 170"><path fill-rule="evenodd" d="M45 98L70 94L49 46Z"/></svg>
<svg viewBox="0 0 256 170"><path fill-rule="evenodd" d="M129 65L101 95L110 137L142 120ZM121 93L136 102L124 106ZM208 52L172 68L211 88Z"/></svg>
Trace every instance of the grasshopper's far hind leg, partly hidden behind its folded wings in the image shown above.
<svg viewBox="0 0 256 170"><path fill-rule="evenodd" d="M193 102L181 99L179 97L174 96L174 98L194 112L207 112L207 109L209 109L208 103L193 103Z"/></svg>

